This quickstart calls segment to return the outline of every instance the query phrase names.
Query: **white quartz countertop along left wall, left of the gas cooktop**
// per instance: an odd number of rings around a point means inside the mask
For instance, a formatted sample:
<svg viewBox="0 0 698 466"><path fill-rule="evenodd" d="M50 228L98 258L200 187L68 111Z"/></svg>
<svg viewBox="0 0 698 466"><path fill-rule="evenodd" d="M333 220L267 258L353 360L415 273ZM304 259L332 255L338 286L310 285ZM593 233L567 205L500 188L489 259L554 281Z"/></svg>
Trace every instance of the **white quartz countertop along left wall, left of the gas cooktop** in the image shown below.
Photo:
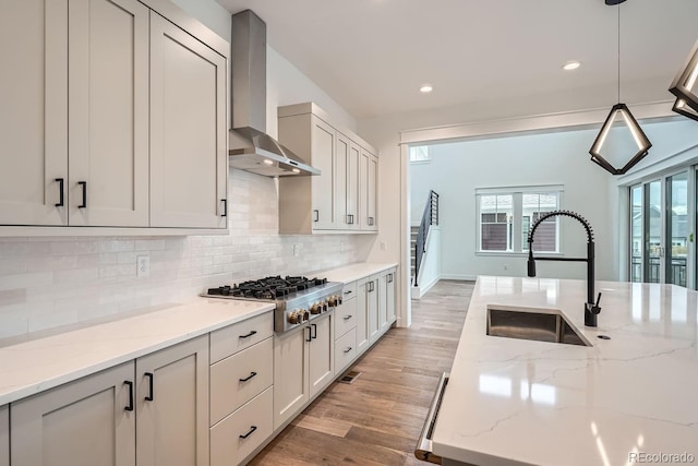
<svg viewBox="0 0 698 466"><path fill-rule="evenodd" d="M0 347L0 406L273 309L273 303L196 298Z"/></svg>

